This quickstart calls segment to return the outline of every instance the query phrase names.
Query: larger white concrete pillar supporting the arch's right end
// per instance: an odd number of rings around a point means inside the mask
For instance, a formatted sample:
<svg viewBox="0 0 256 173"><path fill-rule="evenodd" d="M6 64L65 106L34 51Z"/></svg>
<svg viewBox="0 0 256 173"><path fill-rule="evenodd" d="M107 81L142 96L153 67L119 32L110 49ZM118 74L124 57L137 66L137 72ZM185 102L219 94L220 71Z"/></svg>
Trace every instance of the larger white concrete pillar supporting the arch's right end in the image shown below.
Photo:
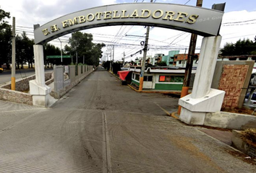
<svg viewBox="0 0 256 173"><path fill-rule="evenodd" d="M179 99L182 106L179 118L184 123L203 125L206 112L221 110L225 92L210 88L220 44L221 36L204 37L202 40L192 94Z"/></svg>

